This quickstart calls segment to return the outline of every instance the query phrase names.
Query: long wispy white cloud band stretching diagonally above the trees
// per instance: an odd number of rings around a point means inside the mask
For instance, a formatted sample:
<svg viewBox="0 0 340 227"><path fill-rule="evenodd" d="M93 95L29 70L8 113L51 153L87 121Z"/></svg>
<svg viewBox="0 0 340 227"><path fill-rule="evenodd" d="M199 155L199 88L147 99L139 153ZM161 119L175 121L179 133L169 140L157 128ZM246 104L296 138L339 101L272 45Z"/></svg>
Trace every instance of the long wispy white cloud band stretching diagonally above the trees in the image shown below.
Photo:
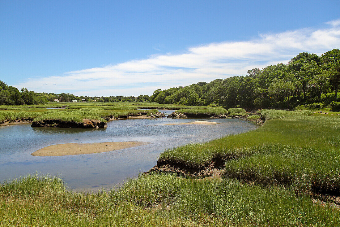
<svg viewBox="0 0 340 227"><path fill-rule="evenodd" d="M210 43L191 47L182 54L153 55L59 76L32 78L14 86L77 95L150 95L158 88L245 75L254 67L287 63L303 51L321 55L339 47L340 19L327 22L324 28L260 34L242 42Z"/></svg>

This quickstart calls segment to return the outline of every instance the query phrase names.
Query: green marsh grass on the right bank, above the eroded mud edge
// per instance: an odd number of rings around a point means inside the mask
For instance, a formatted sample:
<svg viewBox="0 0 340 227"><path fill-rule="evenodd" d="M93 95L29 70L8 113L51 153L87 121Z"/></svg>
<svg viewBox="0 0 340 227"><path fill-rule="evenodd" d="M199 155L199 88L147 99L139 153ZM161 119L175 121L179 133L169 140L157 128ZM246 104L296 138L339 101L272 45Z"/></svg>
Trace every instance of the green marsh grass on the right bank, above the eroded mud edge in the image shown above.
<svg viewBox="0 0 340 227"><path fill-rule="evenodd" d="M295 184L299 193L339 193L340 119L286 112L263 111L266 117L278 119L255 131L167 149L159 160L203 167L216 156L225 157L229 177Z"/></svg>

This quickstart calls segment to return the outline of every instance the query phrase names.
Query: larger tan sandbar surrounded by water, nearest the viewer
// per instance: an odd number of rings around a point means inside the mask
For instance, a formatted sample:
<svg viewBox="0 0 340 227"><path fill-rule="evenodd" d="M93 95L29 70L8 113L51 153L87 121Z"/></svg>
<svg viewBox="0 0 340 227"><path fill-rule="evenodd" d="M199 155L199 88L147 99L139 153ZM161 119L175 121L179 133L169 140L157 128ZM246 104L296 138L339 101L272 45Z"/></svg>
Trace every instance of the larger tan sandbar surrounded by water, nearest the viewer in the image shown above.
<svg viewBox="0 0 340 227"><path fill-rule="evenodd" d="M75 154L93 154L125 148L148 145L149 142L102 142L102 143L63 143L41 148L32 153L33 156L63 156Z"/></svg>

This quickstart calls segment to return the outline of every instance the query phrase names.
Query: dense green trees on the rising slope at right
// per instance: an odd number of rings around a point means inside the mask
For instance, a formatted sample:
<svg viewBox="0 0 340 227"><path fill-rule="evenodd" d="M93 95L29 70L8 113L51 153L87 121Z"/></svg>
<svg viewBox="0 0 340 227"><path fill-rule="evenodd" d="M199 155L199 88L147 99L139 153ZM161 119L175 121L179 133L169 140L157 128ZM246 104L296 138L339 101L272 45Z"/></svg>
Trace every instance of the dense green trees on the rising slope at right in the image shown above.
<svg viewBox="0 0 340 227"><path fill-rule="evenodd" d="M160 104L209 105L243 108L293 108L321 102L340 101L340 50L322 56L303 52L287 64L249 70L233 76L198 82L185 87L157 89L149 102Z"/></svg>

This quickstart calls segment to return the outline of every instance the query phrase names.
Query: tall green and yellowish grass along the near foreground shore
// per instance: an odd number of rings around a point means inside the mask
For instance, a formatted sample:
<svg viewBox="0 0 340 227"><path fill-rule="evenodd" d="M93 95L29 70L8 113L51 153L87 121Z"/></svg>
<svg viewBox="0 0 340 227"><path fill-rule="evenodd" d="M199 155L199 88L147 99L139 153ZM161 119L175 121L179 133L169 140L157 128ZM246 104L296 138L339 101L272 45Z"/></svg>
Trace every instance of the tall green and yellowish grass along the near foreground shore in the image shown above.
<svg viewBox="0 0 340 227"><path fill-rule="evenodd" d="M155 209L158 205L158 209ZM58 178L0 186L0 226L339 226L340 211L284 187L141 175L97 194Z"/></svg>

